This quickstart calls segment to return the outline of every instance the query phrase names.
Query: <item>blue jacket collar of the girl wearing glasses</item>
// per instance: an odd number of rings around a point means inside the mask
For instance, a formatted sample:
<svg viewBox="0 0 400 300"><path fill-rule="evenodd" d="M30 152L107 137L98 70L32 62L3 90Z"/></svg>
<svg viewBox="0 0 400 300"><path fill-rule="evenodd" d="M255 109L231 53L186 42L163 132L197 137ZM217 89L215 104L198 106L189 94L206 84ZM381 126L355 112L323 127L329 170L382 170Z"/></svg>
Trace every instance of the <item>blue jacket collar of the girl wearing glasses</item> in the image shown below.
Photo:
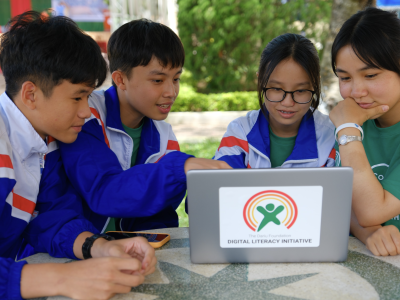
<svg viewBox="0 0 400 300"><path fill-rule="evenodd" d="M268 111L265 110L267 115ZM250 145L267 157L270 157L269 122L261 109L257 121L247 135ZM261 138L260 138L261 137ZM317 136L315 133L314 118L306 114L301 120L299 132L292 153L286 161L309 160L318 158Z"/></svg>

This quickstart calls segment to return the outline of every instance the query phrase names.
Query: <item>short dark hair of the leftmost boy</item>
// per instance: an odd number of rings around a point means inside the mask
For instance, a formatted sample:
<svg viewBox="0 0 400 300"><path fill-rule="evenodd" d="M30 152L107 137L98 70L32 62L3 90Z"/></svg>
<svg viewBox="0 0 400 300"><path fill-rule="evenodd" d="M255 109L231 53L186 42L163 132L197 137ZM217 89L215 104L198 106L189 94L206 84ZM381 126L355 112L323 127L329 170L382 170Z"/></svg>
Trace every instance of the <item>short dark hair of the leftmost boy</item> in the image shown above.
<svg viewBox="0 0 400 300"><path fill-rule="evenodd" d="M63 80L93 87L104 82L107 64L99 46L71 19L28 11L7 26L0 40L0 67L10 98L28 80L46 97Z"/></svg>

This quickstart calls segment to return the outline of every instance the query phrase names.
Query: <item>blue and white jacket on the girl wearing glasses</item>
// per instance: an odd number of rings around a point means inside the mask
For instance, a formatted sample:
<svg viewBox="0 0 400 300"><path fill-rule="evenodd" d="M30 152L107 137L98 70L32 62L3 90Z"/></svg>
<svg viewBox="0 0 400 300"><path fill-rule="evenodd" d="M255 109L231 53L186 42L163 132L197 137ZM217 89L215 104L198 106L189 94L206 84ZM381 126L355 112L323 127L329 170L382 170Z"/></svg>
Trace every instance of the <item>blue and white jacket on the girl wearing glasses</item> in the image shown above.
<svg viewBox="0 0 400 300"><path fill-rule="evenodd" d="M261 110L253 110L228 125L214 159L232 168L271 168L268 121ZM292 153L282 168L333 167L335 127L329 117L315 111L301 123Z"/></svg>

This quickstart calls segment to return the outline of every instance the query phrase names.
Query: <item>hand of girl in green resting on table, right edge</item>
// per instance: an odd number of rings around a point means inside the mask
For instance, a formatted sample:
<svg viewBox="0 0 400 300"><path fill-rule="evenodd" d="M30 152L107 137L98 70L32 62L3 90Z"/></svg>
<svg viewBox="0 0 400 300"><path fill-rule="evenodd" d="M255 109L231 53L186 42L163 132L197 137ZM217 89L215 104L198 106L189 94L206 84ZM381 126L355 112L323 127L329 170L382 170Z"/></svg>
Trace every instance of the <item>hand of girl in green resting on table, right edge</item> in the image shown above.
<svg viewBox="0 0 400 300"><path fill-rule="evenodd" d="M376 256L400 254L400 232L394 225L383 226L367 237L365 245Z"/></svg>

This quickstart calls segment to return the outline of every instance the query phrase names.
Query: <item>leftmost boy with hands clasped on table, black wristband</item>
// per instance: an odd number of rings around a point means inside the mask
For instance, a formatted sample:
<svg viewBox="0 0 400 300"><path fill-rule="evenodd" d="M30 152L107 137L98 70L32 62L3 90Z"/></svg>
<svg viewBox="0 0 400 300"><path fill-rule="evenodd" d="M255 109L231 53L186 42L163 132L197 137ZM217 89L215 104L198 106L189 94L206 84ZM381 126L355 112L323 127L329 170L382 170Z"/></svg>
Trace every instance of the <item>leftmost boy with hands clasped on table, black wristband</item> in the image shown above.
<svg viewBox="0 0 400 300"><path fill-rule="evenodd" d="M93 236L98 230L83 217L82 200L60 158L46 157L57 147L50 136L66 143L76 139L90 116L87 98L105 79L105 61L97 44L68 18L27 12L9 25L0 43L6 81L0 96L0 299L109 298L128 292L154 270L154 250L143 239L106 241ZM58 171L45 167L45 161ZM135 244L145 250L135 253ZM86 252L84 245L89 246ZM15 262L18 252L24 257L33 251L72 259L111 253L120 258L69 266ZM147 258L131 257L137 255ZM115 277L96 275L103 272ZM95 285L110 289L94 290Z"/></svg>

